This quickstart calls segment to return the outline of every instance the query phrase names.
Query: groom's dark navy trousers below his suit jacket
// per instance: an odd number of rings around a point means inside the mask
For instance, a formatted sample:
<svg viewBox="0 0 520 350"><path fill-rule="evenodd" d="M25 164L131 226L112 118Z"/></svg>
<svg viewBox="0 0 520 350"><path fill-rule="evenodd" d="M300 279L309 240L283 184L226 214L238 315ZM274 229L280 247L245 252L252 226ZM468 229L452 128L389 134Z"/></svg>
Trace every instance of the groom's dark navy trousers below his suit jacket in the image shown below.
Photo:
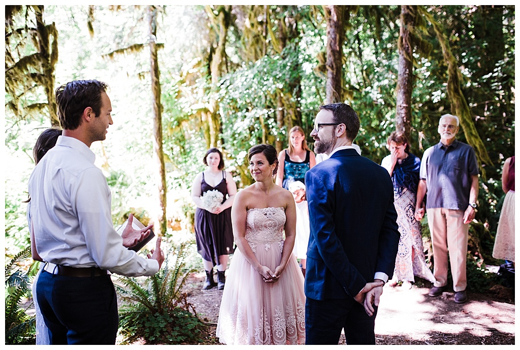
<svg viewBox="0 0 520 350"><path fill-rule="evenodd" d="M337 345L341 330L349 345L374 345L374 321L377 314L368 316L365 308L354 299L314 300L305 302L305 344Z"/></svg>

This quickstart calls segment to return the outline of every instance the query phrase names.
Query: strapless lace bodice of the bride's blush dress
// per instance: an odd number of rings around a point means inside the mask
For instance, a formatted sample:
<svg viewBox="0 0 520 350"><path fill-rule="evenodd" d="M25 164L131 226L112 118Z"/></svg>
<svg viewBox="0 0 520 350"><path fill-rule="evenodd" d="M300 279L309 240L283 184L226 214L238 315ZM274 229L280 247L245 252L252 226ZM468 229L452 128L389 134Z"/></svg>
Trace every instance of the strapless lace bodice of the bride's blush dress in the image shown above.
<svg viewBox="0 0 520 350"><path fill-rule="evenodd" d="M285 210L283 208L253 208L248 210L245 239L250 245L282 241Z"/></svg>

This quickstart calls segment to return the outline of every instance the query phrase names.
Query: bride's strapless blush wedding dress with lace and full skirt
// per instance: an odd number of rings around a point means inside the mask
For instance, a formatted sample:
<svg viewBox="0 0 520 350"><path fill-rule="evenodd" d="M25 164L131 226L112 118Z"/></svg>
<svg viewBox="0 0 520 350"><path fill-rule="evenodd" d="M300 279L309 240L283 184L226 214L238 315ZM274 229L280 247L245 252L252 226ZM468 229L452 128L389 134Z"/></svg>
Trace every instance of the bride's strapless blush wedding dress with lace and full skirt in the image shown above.
<svg viewBox="0 0 520 350"><path fill-rule="evenodd" d="M283 249L283 208L248 210L245 239L259 263L272 271ZM239 249L233 254L220 303L216 335L221 343L305 344L305 293L296 257L275 283L266 283Z"/></svg>

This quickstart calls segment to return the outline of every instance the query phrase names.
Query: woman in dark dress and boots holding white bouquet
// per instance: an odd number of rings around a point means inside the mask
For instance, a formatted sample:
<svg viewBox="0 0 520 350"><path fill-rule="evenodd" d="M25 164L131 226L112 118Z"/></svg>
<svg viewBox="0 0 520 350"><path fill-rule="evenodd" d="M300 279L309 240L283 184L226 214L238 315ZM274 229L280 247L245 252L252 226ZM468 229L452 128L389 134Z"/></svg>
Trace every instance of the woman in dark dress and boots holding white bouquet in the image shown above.
<svg viewBox="0 0 520 350"><path fill-rule="evenodd" d="M191 187L191 198L197 204L195 238L206 271L203 289L217 286L222 290L228 256L233 253L231 205L237 194L237 184L231 174L224 171L224 159L218 148L207 150L202 162L207 168L197 174ZM222 193L222 201L212 205L211 200L219 197L215 191ZM206 195L206 192L210 193ZM217 267L217 283L213 278L213 266Z"/></svg>

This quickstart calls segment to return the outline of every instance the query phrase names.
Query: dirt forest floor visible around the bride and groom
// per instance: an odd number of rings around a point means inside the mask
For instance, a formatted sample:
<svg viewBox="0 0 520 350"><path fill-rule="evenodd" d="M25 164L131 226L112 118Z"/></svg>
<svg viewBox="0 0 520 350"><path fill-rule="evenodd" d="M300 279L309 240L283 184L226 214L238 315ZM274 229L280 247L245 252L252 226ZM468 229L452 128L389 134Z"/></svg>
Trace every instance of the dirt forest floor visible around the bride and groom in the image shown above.
<svg viewBox="0 0 520 350"><path fill-rule="evenodd" d="M202 290L205 275L192 274L184 288L208 328L203 344L215 338L222 292ZM375 319L378 345L514 345L514 290L497 284L486 293L468 291L468 301L456 304L454 292L428 296L428 287L385 286ZM339 344L345 344L342 335Z"/></svg>

